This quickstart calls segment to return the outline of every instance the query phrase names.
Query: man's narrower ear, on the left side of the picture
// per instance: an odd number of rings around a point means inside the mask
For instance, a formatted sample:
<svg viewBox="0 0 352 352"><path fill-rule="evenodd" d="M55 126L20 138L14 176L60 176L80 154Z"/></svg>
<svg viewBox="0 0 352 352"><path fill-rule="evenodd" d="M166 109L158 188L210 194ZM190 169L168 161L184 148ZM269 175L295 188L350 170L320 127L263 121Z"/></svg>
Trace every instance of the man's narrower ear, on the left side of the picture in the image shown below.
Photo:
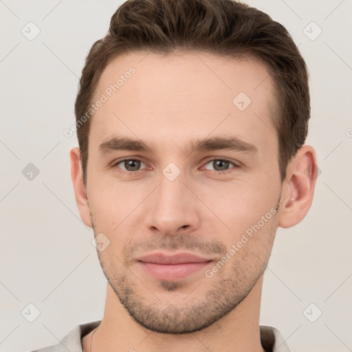
<svg viewBox="0 0 352 352"><path fill-rule="evenodd" d="M74 184L74 195L80 212L80 218L91 228L91 214L80 164L80 149L78 147L72 148L69 157L71 159L72 184Z"/></svg>

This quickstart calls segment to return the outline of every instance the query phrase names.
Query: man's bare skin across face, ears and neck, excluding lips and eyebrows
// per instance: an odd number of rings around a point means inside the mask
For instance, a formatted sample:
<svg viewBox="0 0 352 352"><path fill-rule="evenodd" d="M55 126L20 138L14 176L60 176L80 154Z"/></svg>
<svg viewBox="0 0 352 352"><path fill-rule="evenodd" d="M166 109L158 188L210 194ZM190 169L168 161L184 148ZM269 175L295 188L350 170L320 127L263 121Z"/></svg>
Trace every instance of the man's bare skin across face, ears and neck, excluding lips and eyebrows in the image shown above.
<svg viewBox="0 0 352 352"><path fill-rule="evenodd" d="M314 148L298 150L281 184L272 80L257 61L124 54L102 73L96 97L131 66L135 74L91 118L86 189L78 148L70 154L80 216L110 241L98 250L107 299L91 351L263 351L263 272L276 228L296 225L311 206ZM243 111L232 103L240 92L252 100ZM151 151L100 153L100 144L117 136L142 140ZM254 144L256 153L184 150L192 140L230 136ZM123 157L140 159L137 171ZM230 163L213 162L223 158ZM179 170L173 181L163 173L170 162ZM263 217L259 230L207 277L205 270ZM188 252L212 262L161 281L137 262L151 252ZM83 338L84 351L93 332Z"/></svg>

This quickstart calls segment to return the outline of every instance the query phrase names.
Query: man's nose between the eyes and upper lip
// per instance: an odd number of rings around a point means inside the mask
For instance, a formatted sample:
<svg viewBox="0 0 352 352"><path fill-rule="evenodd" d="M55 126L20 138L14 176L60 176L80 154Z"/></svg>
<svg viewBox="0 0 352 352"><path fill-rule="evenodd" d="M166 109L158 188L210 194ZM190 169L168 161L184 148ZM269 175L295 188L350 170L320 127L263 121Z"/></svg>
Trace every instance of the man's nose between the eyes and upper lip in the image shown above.
<svg viewBox="0 0 352 352"><path fill-rule="evenodd" d="M148 197L146 225L151 231L172 236L199 228L201 208L190 188L181 175L173 181L161 175L159 186Z"/></svg>

